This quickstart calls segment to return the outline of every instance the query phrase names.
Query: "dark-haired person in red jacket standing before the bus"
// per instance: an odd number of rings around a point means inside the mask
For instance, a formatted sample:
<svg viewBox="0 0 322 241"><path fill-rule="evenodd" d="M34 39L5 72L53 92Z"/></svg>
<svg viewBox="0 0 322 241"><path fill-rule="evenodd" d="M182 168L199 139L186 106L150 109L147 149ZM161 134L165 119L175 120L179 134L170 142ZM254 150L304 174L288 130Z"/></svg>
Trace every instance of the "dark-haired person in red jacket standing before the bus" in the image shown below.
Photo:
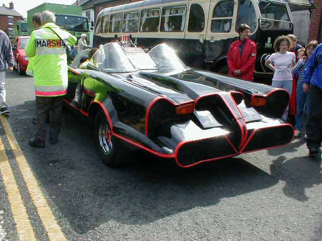
<svg viewBox="0 0 322 241"><path fill-rule="evenodd" d="M227 63L230 76L253 81L257 46L249 39L250 32L251 27L247 24L239 26L239 39L230 45Z"/></svg>

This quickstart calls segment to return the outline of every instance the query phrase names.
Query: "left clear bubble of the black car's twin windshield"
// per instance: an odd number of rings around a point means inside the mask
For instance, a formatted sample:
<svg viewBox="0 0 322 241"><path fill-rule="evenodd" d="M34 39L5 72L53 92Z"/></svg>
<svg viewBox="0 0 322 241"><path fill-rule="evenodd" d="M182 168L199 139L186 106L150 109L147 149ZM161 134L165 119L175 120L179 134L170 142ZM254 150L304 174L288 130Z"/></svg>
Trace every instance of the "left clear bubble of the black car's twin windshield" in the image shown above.
<svg viewBox="0 0 322 241"><path fill-rule="evenodd" d="M108 72L122 73L137 70L117 43L108 43L99 48L90 60L90 65Z"/></svg>

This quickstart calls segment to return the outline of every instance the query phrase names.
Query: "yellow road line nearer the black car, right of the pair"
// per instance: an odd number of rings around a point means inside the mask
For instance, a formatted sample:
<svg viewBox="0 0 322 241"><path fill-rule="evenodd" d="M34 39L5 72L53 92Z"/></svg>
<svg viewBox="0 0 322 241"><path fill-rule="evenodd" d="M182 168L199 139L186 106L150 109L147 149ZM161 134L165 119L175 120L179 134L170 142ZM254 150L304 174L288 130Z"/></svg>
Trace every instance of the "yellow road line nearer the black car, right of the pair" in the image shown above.
<svg viewBox="0 0 322 241"><path fill-rule="evenodd" d="M46 198L44 197L37 180L10 128L7 118L0 115L0 121L7 134L9 144L12 152L16 157L16 162L19 166L20 172L25 180L30 196L38 211L39 217L47 231L48 237L52 241L66 241L64 234L62 233L60 226L57 224L55 216L53 215Z"/></svg>

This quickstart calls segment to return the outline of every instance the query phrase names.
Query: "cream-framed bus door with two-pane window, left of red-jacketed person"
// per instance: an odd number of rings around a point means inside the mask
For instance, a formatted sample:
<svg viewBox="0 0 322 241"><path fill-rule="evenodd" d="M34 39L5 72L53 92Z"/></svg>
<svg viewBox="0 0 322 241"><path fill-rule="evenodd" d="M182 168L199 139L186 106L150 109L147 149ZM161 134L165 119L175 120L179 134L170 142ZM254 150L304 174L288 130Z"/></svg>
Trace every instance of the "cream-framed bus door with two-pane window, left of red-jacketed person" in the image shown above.
<svg viewBox="0 0 322 241"><path fill-rule="evenodd" d="M212 71L228 72L228 49L239 36L235 30L237 10L237 0L211 0L204 62Z"/></svg>

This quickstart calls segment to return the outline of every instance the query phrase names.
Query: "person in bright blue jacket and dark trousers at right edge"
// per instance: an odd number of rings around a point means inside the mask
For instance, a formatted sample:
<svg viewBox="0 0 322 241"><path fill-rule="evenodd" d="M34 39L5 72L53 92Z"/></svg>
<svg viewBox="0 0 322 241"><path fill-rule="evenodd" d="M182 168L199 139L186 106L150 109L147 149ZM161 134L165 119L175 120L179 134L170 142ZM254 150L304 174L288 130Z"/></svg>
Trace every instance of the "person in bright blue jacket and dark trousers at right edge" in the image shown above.
<svg viewBox="0 0 322 241"><path fill-rule="evenodd" d="M318 155L322 141L322 44L307 60L303 91L309 93L310 112L306 125L308 154Z"/></svg>

